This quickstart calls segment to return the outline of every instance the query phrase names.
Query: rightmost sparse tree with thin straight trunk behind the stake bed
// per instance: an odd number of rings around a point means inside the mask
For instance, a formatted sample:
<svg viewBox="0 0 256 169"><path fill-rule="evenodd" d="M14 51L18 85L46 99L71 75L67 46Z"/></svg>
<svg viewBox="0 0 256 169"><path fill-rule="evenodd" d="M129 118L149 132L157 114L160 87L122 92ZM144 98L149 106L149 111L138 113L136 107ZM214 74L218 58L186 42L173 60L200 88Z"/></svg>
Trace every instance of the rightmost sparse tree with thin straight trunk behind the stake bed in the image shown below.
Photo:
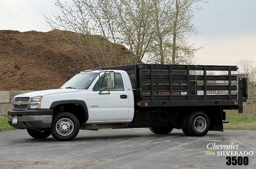
<svg viewBox="0 0 256 169"><path fill-rule="evenodd" d="M191 34L198 34L197 27L192 22L194 17L193 9L201 9L197 3L206 3L201 0L173 0L174 13L169 17L173 18L173 42L172 42L172 64L179 64L189 61L199 49L194 44L189 45L187 37ZM184 59L182 59L184 57Z"/></svg>

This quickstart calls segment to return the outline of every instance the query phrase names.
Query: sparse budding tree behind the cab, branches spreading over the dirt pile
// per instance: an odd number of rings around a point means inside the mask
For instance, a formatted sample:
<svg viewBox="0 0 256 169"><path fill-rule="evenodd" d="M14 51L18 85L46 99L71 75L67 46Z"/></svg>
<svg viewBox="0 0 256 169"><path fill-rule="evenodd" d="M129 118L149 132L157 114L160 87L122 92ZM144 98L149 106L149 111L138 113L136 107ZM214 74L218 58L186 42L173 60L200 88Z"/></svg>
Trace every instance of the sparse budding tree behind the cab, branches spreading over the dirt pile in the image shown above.
<svg viewBox="0 0 256 169"><path fill-rule="evenodd" d="M69 33L77 49L90 62L92 67L122 64L114 48L106 53L99 48L101 41L90 36L92 49L99 54L92 59L85 50L84 35L100 35L113 43L123 44L134 53L134 57L122 58L123 64L140 63L154 36L152 27L151 1L106 1L106 0L55 0L60 14L47 17L53 29L72 31ZM154 26L154 25L153 25ZM89 44L90 45L90 44Z"/></svg>

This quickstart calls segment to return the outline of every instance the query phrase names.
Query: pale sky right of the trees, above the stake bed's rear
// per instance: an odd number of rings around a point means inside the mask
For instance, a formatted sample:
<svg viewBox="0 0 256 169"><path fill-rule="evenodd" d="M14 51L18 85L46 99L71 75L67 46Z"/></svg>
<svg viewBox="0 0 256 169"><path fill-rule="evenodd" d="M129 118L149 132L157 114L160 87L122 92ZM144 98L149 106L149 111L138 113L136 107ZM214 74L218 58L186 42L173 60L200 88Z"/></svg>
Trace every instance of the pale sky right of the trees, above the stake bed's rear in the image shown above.
<svg viewBox="0 0 256 169"><path fill-rule="evenodd" d="M248 59L256 66L256 1L209 0L202 6L194 18L201 34L191 38L203 46L197 63L237 65Z"/></svg>

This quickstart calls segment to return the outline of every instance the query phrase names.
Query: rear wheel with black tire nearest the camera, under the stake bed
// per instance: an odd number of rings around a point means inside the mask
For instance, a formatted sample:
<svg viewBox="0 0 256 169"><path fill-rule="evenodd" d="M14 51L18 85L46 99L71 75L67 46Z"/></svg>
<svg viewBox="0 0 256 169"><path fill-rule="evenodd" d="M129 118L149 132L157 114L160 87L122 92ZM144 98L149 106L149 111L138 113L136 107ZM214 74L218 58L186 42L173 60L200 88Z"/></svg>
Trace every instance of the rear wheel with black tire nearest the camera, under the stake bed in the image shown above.
<svg viewBox="0 0 256 169"><path fill-rule="evenodd" d="M182 131L189 136L204 136L209 128L209 117L204 112L196 111L186 117Z"/></svg>

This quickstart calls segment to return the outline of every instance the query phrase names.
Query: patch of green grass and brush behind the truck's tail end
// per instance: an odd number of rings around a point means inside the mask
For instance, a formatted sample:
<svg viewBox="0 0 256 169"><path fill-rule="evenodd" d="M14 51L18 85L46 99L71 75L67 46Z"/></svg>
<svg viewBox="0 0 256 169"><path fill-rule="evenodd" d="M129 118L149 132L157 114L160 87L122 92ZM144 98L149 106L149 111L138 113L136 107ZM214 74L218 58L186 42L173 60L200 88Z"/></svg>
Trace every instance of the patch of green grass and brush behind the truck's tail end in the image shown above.
<svg viewBox="0 0 256 169"><path fill-rule="evenodd" d="M254 100L244 103L244 113L238 114L238 110L226 110L224 129L231 130L256 130L256 104Z"/></svg>

